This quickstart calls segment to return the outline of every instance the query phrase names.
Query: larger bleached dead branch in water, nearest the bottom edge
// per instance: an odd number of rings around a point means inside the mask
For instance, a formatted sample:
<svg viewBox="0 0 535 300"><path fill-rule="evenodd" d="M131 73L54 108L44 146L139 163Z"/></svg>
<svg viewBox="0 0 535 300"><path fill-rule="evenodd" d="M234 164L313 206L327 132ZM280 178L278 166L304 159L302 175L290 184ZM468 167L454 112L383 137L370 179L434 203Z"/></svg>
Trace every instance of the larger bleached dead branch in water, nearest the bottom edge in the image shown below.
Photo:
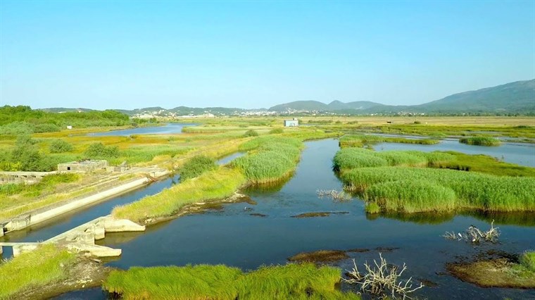
<svg viewBox="0 0 535 300"><path fill-rule="evenodd" d="M353 259L353 270L348 270L350 278L342 278L342 280L351 285L360 285L360 291L362 292L375 295L382 294L383 296L386 296L385 293L387 293L393 299L396 299L396 296L401 296L402 299L412 299L408 294L424 287L420 283L418 287L413 288L413 284L410 282L413 277L410 277L406 282L399 279L401 274L407 270L405 263L403 263L403 268L398 271L398 266L388 265L381 253L379 253L379 258L381 258L380 263L373 261L375 267L367 262L364 263L366 269L364 274L358 271L357 264Z"/></svg>

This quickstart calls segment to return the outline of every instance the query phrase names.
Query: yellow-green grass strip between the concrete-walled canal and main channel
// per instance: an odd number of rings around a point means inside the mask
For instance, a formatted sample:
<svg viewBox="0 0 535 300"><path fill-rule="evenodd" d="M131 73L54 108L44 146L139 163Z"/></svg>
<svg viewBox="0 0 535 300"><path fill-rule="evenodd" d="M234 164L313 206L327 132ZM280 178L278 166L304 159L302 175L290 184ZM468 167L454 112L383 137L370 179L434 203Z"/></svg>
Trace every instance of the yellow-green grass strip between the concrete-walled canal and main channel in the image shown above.
<svg viewBox="0 0 535 300"><path fill-rule="evenodd" d="M246 183L239 170L220 167L199 177L180 182L179 185L125 206L113 208L115 218L127 218L144 223L149 218L174 215L188 204L215 201L232 196Z"/></svg>

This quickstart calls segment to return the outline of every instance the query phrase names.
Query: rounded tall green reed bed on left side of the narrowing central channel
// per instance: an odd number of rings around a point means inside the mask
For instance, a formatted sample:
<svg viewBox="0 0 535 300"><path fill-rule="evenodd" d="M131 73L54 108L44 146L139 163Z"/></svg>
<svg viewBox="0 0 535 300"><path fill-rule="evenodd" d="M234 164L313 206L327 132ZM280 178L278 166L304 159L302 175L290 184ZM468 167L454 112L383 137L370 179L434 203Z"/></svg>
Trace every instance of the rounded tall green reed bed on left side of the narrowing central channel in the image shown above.
<svg viewBox="0 0 535 300"><path fill-rule="evenodd" d="M241 170L255 184L276 182L295 170L303 143L288 137L258 137L241 145L246 156L235 159L231 165Z"/></svg>

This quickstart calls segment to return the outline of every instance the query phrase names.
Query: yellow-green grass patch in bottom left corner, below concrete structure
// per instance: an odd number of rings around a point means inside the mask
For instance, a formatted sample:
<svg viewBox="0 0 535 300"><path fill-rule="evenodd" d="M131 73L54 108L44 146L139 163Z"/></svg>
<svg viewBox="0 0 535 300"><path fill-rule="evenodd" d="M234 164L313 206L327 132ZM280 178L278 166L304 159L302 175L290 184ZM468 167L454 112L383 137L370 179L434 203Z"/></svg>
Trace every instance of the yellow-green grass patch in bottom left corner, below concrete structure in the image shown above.
<svg viewBox="0 0 535 300"><path fill-rule="evenodd" d="M1 264L0 299L10 299L13 294L28 287L44 286L64 279L75 259L75 254L47 244Z"/></svg>

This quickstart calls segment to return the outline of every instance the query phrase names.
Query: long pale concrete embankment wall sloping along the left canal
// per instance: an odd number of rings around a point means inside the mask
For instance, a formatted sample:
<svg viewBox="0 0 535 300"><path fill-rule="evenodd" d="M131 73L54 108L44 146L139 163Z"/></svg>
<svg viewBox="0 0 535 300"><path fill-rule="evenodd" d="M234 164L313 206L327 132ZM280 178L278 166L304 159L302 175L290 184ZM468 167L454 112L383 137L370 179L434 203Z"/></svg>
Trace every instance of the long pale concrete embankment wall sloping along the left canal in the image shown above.
<svg viewBox="0 0 535 300"><path fill-rule="evenodd" d="M55 218L58 215L63 215L63 213L68 213L77 208L81 208L89 204L94 204L97 201L101 201L103 199L110 198L111 196L116 196L118 194L128 192L132 189L137 189L148 184L149 182L152 182L153 180L155 180L155 178L162 177L168 174L169 172L167 170L154 172L153 175L148 175L147 177L127 182L124 185L119 185L117 187L112 187L111 189L106 189L105 191L86 196L82 199L68 201L65 204L61 204L60 206L54 206L52 208L42 208L39 209L39 211L35 211L34 213L29 213L27 215L22 215L18 218L13 218L5 225L0 225L0 235L4 234L4 230L6 230L6 232L22 230L26 227L42 223L51 218ZM1 229L2 226L4 227L4 230Z"/></svg>

